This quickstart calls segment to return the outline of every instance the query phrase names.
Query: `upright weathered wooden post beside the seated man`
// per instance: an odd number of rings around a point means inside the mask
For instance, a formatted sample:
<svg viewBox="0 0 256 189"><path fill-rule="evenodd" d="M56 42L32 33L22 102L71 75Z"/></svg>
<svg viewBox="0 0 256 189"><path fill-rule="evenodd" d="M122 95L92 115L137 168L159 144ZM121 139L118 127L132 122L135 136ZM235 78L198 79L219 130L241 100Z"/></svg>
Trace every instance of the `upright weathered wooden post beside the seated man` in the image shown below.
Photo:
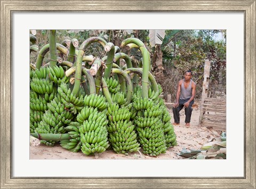
<svg viewBox="0 0 256 189"><path fill-rule="evenodd" d="M203 90L202 90L202 96L201 96L200 116L199 116L199 125L198 126L202 126L203 114L204 114L204 112L203 112L204 111L204 101L205 101L205 98L207 98L208 89L209 89L210 68L211 68L211 62L209 60L205 60L205 62L204 62L204 81L203 81Z"/></svg>

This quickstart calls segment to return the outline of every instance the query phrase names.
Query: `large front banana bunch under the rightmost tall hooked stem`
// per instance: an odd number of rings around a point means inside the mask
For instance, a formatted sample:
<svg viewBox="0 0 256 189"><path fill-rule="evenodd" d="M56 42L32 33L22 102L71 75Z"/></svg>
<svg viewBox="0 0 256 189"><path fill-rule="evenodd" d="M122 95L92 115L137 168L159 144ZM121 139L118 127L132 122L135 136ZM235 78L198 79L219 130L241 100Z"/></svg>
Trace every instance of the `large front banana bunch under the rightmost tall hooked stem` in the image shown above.
<svg viewBox="0 0 256 189"><path fill-rule="evenodd" d="M153 100L142 97L135 97L133 101L133 108L138 111L134 124L137 126L139 142L143 153L151 157L166 153L162 111L159 106Z"/></svg>

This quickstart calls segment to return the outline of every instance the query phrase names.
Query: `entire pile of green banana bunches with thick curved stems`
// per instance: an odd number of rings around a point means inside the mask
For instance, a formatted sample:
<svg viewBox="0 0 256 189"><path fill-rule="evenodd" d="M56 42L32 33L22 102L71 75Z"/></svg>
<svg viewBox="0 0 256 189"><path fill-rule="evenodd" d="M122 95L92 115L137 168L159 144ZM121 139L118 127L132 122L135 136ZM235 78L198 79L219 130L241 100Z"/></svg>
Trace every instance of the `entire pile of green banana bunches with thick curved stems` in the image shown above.
<svg viewBox="0 0 256 189"><path fill-rule="evenodd" d="M101 61L84 56L87 45L94 42L106 45L107 56ZM135 43L138 41L134 40ZM134 44L132 46L136 46ZM53 61L57 57L50 57L49 65L43 67L41 59L47 49L43 47L36 68L31 69L30 65L30 133L65 134L68 137L59 139L60 145L71 152L81 150L85 155L107 149L127 155L142 149L144 154L156 157L165 153L167 147L177 145L169 111L159 97L162 88L159 85L157 88L147 68L143 44L137 46L144 53L143 67L146 69L132 69L130 57L124 53L122 57L127 65L121 68L116 64L112 69L117 48L98 37L86 39L78 50L70 45L69 55L67 48L59 44L60 56L74 60L65 61L65 64L57 65ZM50 52L50 56L58 53ZM70 59L71 56L76 58ZM83 66L84 60L91 61L86 64L88 69L93 64L93 74ZM129 75L131 71L141 76L141 85L137 76ZM147 72L151 76L147 76ZM142 79L143 76L148 79ZM54 145L56 141L47 137L41 143Z"/></svg>

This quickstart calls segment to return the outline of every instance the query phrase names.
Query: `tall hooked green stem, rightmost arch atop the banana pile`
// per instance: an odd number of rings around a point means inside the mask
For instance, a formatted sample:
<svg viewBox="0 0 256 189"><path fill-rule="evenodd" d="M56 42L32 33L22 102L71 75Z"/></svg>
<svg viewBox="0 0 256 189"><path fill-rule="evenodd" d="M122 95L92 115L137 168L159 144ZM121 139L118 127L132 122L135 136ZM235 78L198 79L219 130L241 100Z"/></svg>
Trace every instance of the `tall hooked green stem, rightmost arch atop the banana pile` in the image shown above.
<svg viewBox="0 0 256 189"><path fill-rule="evenodd" d="M127 38L123 40L122 47L134 43L139 46L139 49L142 53L142 62L143 62L143 74L142 74L142 98L148 98L148 75L149 75L149 59L148 59L148 50L141 42L141 40L137 38Z"/></svg>

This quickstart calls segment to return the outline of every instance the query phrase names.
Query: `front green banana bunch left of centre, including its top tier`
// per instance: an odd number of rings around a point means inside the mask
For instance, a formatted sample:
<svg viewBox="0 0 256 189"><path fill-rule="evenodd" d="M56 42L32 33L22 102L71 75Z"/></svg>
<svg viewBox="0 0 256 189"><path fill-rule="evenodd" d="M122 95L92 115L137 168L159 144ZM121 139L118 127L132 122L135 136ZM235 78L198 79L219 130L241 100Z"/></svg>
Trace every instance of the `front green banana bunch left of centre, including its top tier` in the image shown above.
<svg viewBox="0 0 256 189"><path fill-rule="evenodd" d="M81 137L81 150L85 155L102 153L109 147L108 124L106 111L106 98L102 95L86 95L84 108L77 115L77 121L81 124L79 134Z"/></svg>

